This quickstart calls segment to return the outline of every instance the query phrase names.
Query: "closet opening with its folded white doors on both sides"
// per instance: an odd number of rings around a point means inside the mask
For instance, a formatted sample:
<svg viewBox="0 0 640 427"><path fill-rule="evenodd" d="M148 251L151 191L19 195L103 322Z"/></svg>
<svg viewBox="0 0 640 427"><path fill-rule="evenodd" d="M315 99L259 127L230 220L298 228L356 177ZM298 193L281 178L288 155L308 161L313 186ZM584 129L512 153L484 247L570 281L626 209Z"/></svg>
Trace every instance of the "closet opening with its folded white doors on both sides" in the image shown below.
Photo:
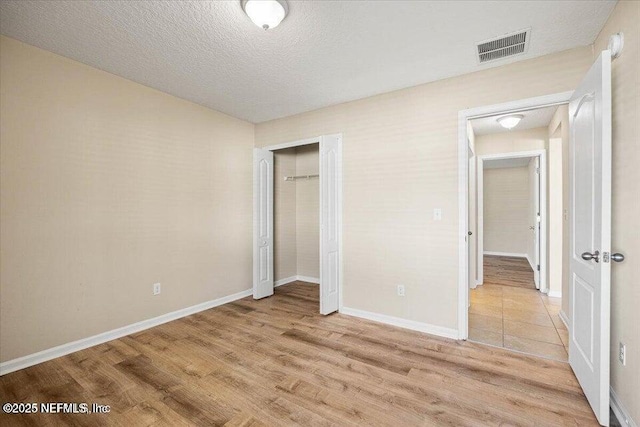
<svg viewBox="0 0 640 427"><path fill-rule="evenodd" d="M278 293L339 310L342 135L254 149L253 297Z"/></svg>

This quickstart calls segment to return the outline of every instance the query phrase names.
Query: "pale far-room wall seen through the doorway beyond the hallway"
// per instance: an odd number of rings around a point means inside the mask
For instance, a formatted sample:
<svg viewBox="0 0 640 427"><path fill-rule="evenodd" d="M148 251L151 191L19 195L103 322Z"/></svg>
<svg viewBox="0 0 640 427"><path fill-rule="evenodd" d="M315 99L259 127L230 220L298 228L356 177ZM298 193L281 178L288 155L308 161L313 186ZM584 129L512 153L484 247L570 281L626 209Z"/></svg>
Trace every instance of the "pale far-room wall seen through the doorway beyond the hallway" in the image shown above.
<svg viewBox="0 0 640 427"><path fill-rule="evenodd" d="M528 254L531 231L529 168L485 169L483 180L486 252Z"/></svg>

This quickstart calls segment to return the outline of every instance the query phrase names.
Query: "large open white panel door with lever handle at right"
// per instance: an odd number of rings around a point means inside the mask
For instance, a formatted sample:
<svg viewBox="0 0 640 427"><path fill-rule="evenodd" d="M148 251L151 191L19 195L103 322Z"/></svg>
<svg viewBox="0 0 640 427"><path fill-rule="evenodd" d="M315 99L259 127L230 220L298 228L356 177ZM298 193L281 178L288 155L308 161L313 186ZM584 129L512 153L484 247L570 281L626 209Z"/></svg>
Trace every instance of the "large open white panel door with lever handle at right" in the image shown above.
<svg viewBox="0 0 640 427"><path fill-rule="evenodd" d="M569 363L598 421L609 425L611 55L602 52L569 104Z"/></svg>

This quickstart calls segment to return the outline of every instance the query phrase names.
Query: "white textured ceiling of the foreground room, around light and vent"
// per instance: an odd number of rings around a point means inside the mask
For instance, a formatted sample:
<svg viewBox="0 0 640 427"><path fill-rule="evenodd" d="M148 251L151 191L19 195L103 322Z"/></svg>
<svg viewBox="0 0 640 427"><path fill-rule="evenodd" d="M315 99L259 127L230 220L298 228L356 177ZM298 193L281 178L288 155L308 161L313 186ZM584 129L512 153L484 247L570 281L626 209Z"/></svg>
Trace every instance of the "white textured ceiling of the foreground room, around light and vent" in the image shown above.
<svg viewBox="0 0 640 427"><path fill-rule="evenodd" d="M289 1L267 32L237 1L0 2L2 34L251 122L593 42L615 1ZM526 55L475 43L532 28Z"/></svg>

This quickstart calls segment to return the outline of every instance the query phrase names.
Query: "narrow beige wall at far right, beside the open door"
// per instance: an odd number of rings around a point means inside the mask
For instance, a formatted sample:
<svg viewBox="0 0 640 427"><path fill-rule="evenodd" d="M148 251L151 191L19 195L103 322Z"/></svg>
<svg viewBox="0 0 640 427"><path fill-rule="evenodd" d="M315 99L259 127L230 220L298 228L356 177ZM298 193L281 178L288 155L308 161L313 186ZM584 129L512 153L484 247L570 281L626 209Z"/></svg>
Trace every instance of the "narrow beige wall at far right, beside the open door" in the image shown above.
<svg viewBox="0 0 640 427"><path fill-rule="evenodd" d="M612 250L627 260L611 267L611 385L640 424L640 2L618 2L596 39L592 60L619 31L624 50L612 65ZM627 345L626 366L618 362L620 341Z"/></svg>

